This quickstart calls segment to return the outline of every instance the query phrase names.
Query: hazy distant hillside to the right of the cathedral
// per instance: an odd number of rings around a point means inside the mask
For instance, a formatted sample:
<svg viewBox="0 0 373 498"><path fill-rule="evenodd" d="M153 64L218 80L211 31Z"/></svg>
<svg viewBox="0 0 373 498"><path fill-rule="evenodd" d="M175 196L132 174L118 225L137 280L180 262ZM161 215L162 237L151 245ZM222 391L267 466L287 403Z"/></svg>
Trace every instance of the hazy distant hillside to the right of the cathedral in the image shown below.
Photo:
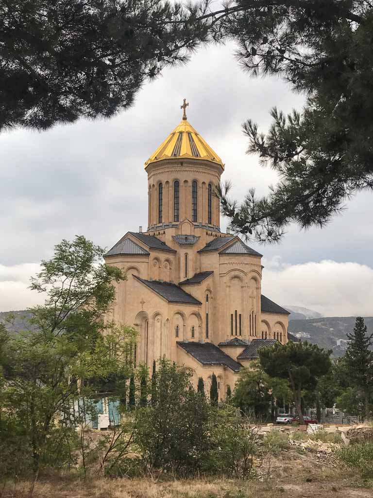
<svg viewBox="0 0 373 498"><path fill-rule="evenodd" d="M333 350L333 356L342 356L347 347L347 333L354 330L356 317L321 317L308 320L291 320L288 331L301 339L322 348ZM368 333L373 333L373 317L364 317ZM342 342L340 340L342 339ZM337 346L337 341L340 345Z"/></svg>

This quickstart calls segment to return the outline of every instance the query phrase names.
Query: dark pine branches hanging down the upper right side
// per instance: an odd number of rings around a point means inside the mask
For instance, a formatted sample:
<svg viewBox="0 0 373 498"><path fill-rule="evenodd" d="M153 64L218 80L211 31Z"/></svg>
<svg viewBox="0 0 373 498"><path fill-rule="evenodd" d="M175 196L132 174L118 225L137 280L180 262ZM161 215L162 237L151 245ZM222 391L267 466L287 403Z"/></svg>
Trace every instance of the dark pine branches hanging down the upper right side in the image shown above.
<svg viewBox="0 0 373 498"><path fill-rule="evenodd" d="M239 206L221 187L234 230L276 242L291 222L323 226L344 200L373 186L373 4L371 1L251 1L231 5L223 36L252 76L278 75L308 97L301 113L271 111L260 133L243 125L249 154L280 175L269 196L249 191ZM234 12L234 7L236 11ZM229 191L229 186L228 186Z"/></svg>

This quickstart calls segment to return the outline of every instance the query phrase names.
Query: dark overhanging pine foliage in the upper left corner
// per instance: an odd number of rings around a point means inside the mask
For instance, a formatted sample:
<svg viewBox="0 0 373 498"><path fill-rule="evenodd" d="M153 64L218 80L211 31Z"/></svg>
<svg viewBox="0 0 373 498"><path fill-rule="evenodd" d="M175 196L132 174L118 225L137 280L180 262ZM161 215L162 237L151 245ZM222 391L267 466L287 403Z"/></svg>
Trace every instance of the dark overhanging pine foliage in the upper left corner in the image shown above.
<svg viewBox="0 0 373 498"><path fill-rule="evenodd" d="M108 118L127 108L146 79L185 62L206 38L203 19L196 20L204 8L158 0L0 1L0 130Z"/></svg>

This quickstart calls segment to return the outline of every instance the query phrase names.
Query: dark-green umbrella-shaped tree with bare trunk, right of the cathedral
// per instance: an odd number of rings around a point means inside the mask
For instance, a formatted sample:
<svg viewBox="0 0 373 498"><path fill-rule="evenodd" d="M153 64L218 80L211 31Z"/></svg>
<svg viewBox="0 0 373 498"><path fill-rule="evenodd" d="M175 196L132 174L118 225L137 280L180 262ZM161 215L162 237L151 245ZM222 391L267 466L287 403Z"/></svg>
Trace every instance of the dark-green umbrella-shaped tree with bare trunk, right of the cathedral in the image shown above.
<svg viewBox="0 0 373 498"><path fill-rule="evenodd" d="M270 348L259 349L263 370L272 377L287 379L293 393L300 424L304 424L301 407L302 389L314 389L317 379L329 372L331 351L324 351L316 344L288 342L276 343Z"/></svg>

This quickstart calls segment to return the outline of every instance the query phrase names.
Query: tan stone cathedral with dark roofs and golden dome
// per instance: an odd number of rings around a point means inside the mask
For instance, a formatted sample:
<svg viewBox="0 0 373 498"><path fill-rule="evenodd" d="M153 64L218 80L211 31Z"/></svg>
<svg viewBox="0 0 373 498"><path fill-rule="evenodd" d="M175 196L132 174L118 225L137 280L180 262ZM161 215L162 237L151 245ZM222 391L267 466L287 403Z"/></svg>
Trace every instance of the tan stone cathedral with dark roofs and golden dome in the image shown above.
<svg viewBox="0 0 373 498"><path fill-rule="evenodd" d="M287 342L289 313L261 293L262 254L220 231L214 192L224 164L187 121L187 106L145 162L147 230L127 232L105 254L127 274L112 318L137 329L135 363L186 365L206 392L215 373L224 399L258 348Z"/></svg>

